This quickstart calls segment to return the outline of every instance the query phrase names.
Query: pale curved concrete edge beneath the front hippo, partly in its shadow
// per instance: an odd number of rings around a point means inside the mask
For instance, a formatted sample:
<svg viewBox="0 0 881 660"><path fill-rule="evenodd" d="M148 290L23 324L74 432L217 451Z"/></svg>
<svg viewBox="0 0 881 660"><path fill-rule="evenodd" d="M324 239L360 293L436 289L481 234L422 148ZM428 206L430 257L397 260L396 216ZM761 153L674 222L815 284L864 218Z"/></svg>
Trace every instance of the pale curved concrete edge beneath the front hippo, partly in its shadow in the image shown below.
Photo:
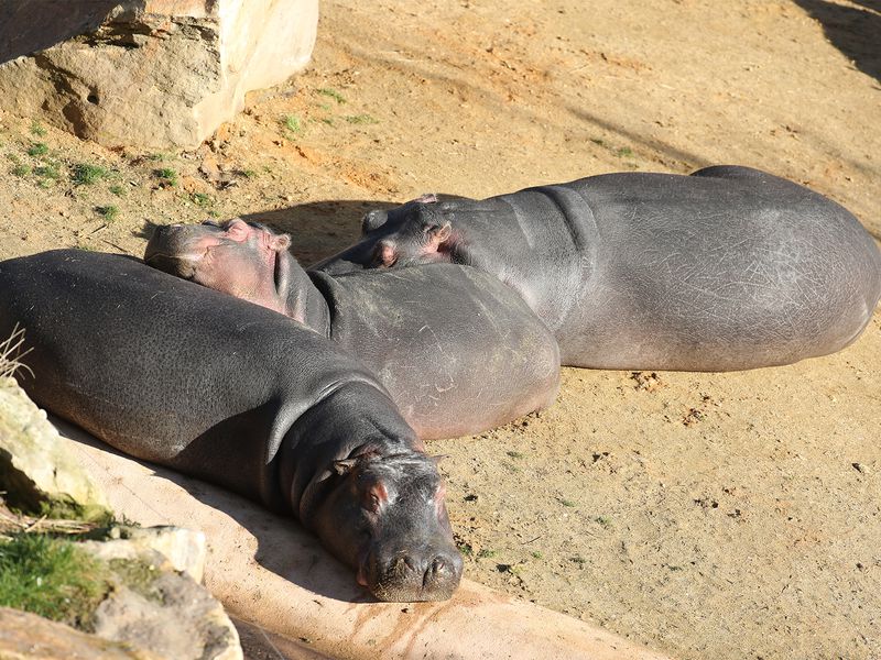
<svg viewBox="0 0 881 660"><path fill-rule="evenodd" d="M231 493L109 451L53 420L117 515L208 537L205 581L228 612L337 658L660 660L578 619L463 581L443 603L376 603L317 539Z"/></svg>

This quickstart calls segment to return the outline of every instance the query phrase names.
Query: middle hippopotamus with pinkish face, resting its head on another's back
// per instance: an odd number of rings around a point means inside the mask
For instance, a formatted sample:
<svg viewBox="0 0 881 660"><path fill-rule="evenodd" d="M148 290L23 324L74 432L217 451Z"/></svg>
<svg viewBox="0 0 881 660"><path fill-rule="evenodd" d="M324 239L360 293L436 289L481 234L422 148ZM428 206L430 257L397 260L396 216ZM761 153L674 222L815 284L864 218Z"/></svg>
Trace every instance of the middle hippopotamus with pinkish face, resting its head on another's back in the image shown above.
<svg viewBox="0 0 881 660"><path fill-rule="evenodd" d="M510 288L467 266L306 272L290 238L233 219L157 227L148 264L290 316L358 356L422 439L496 428L553 403L559 352Z"/></svg>

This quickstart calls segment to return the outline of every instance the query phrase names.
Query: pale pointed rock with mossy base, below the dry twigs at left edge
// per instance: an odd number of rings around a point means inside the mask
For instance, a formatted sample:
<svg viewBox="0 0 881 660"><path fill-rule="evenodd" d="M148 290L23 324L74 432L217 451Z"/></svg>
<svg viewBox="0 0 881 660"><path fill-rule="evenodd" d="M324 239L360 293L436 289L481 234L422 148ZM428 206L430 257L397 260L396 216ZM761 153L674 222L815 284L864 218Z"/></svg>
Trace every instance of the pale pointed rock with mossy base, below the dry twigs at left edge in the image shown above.
<svg viewBox="0 0 881 660"><path fill-rule="evenodd" d="M86 521L111 516L101 488L12 378L0 378L0 491L11 506L30 512Z"/></svg>

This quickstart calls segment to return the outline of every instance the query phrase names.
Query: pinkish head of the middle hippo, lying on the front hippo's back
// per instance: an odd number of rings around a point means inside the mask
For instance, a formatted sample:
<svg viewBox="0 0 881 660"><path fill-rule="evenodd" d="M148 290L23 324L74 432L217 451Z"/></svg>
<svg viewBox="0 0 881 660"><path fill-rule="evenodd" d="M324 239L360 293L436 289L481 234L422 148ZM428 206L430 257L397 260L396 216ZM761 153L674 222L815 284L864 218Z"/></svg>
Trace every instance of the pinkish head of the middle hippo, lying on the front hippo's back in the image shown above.
<svg viewBox="0 0 881 660"><path fill-rule="evenodd" d="M287 252L291 238L235 218L217 223L160 226L146 244L154 268L242 298L316 328L317 294ZM320 324L320 323L317 323Z"/></svg>

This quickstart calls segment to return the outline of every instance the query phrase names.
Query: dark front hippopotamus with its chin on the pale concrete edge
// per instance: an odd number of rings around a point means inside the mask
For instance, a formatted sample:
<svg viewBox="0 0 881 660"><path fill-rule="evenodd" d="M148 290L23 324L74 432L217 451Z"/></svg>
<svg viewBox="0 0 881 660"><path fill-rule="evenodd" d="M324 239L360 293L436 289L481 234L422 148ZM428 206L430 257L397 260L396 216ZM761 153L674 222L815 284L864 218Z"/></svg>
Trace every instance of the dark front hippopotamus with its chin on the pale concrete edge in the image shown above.
<svg viewBox="0 0 881 660"><path fill-rule="evenodd" d="M118 255L0 263L25 392L111 447L292 514L383 601L448 598L463 562L436 459L376 376L257 305Z"/></svg>

